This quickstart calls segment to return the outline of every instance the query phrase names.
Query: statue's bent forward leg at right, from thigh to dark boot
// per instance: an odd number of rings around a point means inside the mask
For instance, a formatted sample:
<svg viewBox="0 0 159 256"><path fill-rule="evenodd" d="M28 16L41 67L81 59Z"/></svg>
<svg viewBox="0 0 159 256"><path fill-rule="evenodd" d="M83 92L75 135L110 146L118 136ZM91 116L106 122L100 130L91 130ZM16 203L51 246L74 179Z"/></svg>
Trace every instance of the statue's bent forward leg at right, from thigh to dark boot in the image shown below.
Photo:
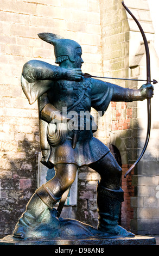
<svg viewBox="0 0 159 256"><path fill-rule="evenodd" d="M100 174L97 185L98 229L112 235L133 236L118 225L120 204L124 200L120 187L122 168L111 153L92 163L90 167Z"/></svg>

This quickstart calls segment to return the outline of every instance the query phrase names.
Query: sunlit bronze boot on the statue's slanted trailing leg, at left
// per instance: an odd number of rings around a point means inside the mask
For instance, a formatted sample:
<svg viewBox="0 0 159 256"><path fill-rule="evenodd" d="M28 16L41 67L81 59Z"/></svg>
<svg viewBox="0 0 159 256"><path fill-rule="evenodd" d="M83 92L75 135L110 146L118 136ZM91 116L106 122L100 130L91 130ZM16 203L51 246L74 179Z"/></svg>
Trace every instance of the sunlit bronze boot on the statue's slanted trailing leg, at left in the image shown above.
<svg viewBox="0 0 159 256"><path fill-rule="evenodd" d="M29 230L41 223L44 216L48 214L49 209L53 209L59 199L55 198L43 184L30 198L26 205L26 211L19 218L12 235L16 238L24 239Z"/></svg>

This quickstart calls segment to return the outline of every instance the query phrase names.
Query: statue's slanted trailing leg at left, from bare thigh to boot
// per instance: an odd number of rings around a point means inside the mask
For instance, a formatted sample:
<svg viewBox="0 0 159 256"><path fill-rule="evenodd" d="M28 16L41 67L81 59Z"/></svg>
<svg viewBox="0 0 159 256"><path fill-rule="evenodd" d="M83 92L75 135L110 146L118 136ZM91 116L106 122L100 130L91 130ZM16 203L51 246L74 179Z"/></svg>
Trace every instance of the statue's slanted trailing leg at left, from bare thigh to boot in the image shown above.
<svg viewBox="0 0 159 256"><path fill-rule="evenodd" d="M24 238L27 230L41 223L49 209L53 209L62 194L72 185L77 167L74 164L57 164L53 179L39 187L30 198L26 211L18 220L13 236Z"/></svg>

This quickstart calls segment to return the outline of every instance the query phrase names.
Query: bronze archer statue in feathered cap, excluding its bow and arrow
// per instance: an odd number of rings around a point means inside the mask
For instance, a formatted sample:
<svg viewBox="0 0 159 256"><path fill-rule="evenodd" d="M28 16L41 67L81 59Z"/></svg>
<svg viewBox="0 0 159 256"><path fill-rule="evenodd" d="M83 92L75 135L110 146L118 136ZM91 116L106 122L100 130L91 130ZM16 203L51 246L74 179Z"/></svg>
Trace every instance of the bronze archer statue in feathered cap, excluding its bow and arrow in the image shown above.
<svg viewBox="0 0 159 256"><path fill-rule="evenodd" d="M59 223L52 209L82 166L89 166L100 174L97 185L99 233L94 229L94 234L133 236L118 225L123 202L122 168L109 148L93 136L96 124L90 111L93 107L103 115L111 101L144 100L153 86L143 84L133 90L85 78L81 71L82 50L77 42L51 33L41 33L39 37L54 46L59 66L30 60L23 66L21 84L29 103L39 102L41 162L50 169L54 167L56 174L35 191L13 236L28 237L29 230L40 225L50 211L56 220L54 225ZM82 113L85 115L81 121ZM56 227L59 228L59 224Z"/></svg>

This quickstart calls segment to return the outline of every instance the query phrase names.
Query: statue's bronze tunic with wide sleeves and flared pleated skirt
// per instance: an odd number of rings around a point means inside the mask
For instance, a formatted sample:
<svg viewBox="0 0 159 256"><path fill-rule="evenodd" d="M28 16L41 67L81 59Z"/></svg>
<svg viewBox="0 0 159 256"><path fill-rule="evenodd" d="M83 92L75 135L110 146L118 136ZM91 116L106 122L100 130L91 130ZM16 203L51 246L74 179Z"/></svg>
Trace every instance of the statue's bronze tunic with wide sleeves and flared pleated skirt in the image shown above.
<svg viewBox="0 0 159 256"><path fill-rule="evenodd" d="M47 95L48 102L58 109L61 114L63 114L63 111L65 113L67 109L66 115L69 119L75 118L75 113L84 117L84 113L91 112L91 107L96 109L100 115L103 115L109 106L113 94L113 84L92 78L83 78L80 82L59 80L56 82L36 81L28 83L22 76L22 88L30 103L34 103L36 99L45 94ZM58 144L52 143L52 139L48 137L48 129L51 129L52 124L47 123L47 134L40 134L40 136L47 136L47 141L50 145L48 162L52 164L74 163L81 167L96 162L106 155L110 150L93 136L92 124L95 125L93 122L91 115L90 123L87 118L80 119L78 122L80 126L77 128L80 131L78 132L75 148L72 147L75 130L72 130L70 127L72 122L67 121L64 124L64 126L67 126L67 131L64 131L65 138ZM53 124L54 126L55 124ZM56 124L56 127L58 127L58 124Z"/></svg>

